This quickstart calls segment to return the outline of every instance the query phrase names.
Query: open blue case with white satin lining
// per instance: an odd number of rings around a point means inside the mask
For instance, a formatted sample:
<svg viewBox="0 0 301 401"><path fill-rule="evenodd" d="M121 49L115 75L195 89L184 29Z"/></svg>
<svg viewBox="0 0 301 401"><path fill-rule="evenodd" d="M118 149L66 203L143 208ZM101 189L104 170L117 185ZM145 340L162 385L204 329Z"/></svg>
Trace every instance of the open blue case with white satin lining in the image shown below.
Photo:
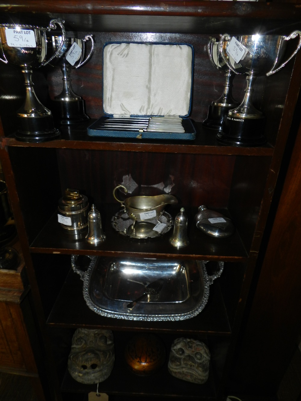
<svg viewBox="0 0 301 401"><path fill-rule="evenodd" d="M188 118L193 87L193 47L182 43L106 43L103 48L104 115L89 136L193 140ZM182 117L185 133L99 128L108 117Z"/></svg>

